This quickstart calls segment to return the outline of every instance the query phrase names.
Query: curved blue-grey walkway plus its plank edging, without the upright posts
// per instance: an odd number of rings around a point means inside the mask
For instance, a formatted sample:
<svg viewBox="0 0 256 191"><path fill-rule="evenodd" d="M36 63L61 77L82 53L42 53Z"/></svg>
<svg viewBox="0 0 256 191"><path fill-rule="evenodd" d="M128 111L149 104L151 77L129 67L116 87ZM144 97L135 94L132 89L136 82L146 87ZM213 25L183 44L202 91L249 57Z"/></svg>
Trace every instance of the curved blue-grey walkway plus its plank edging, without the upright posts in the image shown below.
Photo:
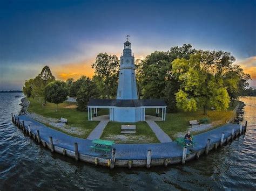
<svg viewBox="0 0 256 191"><path fill-rule="evenodd" d="M65 155L75 157L76 153L74 143L77 143L80 160L96 163L97 159L97 164L105 166L109 164L109 159L111 159L111 153L105 155L100 152L93 152L90 149L90 146L92 145L92 140L66 135L65 133L48 128L44 124L31 119L29 116L16 117L16 119L18 118L20 124L22 124L22 121L24 121L26 131L28 131L28 126L30 125L30 131L33 135L32 137L36 137L37 130L39 130L39 137L44 146L51 146L49 137L52 137L53 145L56 152L65 153ZM203 153L205 151L207 139L209 138L211 139L209 145L210 150L213 148L214 144L217 144L217 146L219 145L222 133L225 133L224 142L226 140L228 141L231 138L232 130L234 131L235 135L239 135L240 125L226 124L221 126L220 128L194 136L194 141L196 142L196 145L194 146L194 148L189 148L187 150L186 160L194 157L196 152ZM132 161L132 164L134 166L145 166L148 150L151 150L151 161L154 165L163 165L163 160L161 159L168 159L167 164L176 164L181 161L181 157L183 155L183 147L178 145L176 142L158 144L114 144L113 147L116 148L115 165L120 167L127 166L127 164L129 164L129 161Z"/></svg>

